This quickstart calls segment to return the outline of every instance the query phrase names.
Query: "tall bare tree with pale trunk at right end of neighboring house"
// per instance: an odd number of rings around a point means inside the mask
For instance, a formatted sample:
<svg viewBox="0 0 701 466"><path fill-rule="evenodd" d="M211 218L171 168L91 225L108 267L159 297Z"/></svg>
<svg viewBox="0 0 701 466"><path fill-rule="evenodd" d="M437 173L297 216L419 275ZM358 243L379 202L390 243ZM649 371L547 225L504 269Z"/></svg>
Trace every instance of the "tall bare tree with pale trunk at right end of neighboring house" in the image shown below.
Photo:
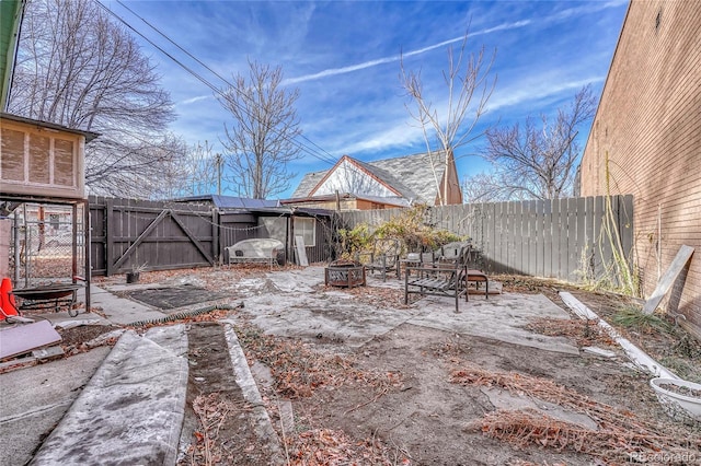
<svg viewBox="0 0 701 466"><path fill-rule="evenodd" d="M456 149L481 136L472 135L472 131L484 114L496 85L496 75L490 77L496 50L486 61L484 47L476 54L468 54L467 45L468 34L462 39L457 57L452 47L448 47L448 70L443 71L447 102L440 106L426 95L421 70L407 71L403 56L401 60L400 81L414 104L414 108L407 105L406 109L423 131L437 188L440 186L438 164L443 164L444 173L447 173L448 165L455 163ZM448 200L448 184L444 185L443 191L437 190L440 205L445 205Z"/></svg>

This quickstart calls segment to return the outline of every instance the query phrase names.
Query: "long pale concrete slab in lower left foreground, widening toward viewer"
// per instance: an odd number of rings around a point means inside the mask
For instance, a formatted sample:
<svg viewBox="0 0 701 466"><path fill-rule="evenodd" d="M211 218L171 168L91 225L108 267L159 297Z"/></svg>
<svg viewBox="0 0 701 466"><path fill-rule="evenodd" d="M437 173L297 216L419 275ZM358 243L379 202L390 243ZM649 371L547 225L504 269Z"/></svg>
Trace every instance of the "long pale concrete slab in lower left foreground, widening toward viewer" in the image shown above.
<svg viewBox="0 0 701 466"><path fill-rule="evenodd" d="M186 353L183 325L125 333L31 464L175 464Z"/></svg>

